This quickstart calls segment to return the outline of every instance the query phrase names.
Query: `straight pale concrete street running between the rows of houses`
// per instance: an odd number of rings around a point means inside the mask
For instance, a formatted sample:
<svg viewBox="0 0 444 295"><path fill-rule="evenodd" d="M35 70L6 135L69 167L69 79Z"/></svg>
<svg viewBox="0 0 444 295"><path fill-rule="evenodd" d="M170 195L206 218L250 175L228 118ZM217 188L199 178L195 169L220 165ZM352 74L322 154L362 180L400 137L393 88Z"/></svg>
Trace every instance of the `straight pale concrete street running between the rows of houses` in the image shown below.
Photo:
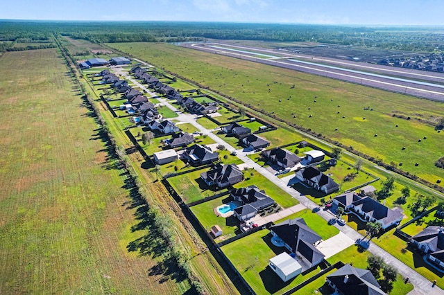
<svg viewBox="0 0 444 295"><path fill-rule="evenodd" d="M121 72L121 74L126 79L128 79L131 82L133 82L134 84L136 84L137 87L144 89L148 93L148 95L157 96L155 93L152 93L151 91L149 91L149 89L144 87L144 85L140 84L137 80L128 76L127 73ZM171 105L169 100L164 99L164 98L157 98L157 100L159 100L163 105L167 106L172 111L177 111L176 107ZM221 145L225 145L225 147L227 147L227 150L229 150L230 152L236 151L237 157L239 159L241 159L242 161L244 161L244 163L246 163L249 167L254 168L257 172L264 175L264 177L266 177L267 179L272 181L274 184L279 186L282 190L287 192L289 195L291 195L295 199L298 199L298 201L300 202L300 204L297 205L298 211L302 210L305 207L307 207L309 210L312 210L313 208L318 207L318 205L316 203L312 202L307 197L300 195L300 193L298 191L294 190L290 186L287 186L287 184L288 184L287 177L284 180L279 179L278 177L275 177L275 175L272 172L268 171L266 168L263 168L262 166L257 164L255 161L253 161L252 159L247 157L247 155L250 154L251 152L245 152L244 150L235 149L234 147L232 147L231 145L229 145L228 143L223 141L222 138L219 138L219 136L216 136L216 134L214 134L214 132L213 132L214 130L207 129L207 128L203 127L202 125L200 125L199 123L197 123L196 118L198 118L198 116L196 116L194 114L180 113L180 114L178 114L178 117L175 119L180 120L183 123L190 123L191 125L194 125L194 127L199 129L200 132L202 132L203 134L207 134L207 136L210 136L210 138L212 138L216 143L221 144ZM318 211L317 214L320 215L321 217L323 217L323 219L326 221L330 220L332 217L334 217L332 215L332 213L330 213L330 211L321 210L321 211ZM358 233L357 231L355 231L354 229L352 229L350 226L348 226L346 224L344 226L339 226L338 224L334 224L333 226L336 226L336 228L339 229L339 231L341 231L341 233L343 233L343 235L346 235L348 237L348 240L346 240L346 244L350 244L350 240L357 241L359 239L364 238L363 235L361 235L360 233ZM384 249L378 247L374 243L370 243L370 247L368 248L368 251L374 255L381 256L382 258L384 258L384 261L388 265L392 265L393 267L398 269L398 271L400 272L400 274L404 278L409 278L410 282L415 287L415 289L413 289L413 291L410 292L409 294L412 294L412 295L416 295L416 294L427 294L427 295L444 294L442 289L440 289L439 287L432 287L432 282L429 282L429 280L427 280L426 278L424 278L423 276L418 274L416 271L414 271L413 269L411 269L407 265L404 265L404 263L402 263L400 260L391 256L390 253L384 251Z"/></svg>

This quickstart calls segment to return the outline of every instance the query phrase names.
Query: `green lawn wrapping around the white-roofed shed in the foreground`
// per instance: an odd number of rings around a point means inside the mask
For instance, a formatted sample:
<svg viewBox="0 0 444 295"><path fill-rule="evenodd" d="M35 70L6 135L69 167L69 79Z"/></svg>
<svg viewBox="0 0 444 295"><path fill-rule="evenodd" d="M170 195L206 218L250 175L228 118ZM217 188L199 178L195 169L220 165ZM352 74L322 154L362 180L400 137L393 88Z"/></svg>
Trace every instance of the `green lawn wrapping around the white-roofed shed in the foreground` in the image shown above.
<svg viewBox="0 0 444 295"><path fill-rule="evenodd" d="M318 266L308 274L282 282L268 267L268 260L284 252L285 248L273 246L270 239L270 231L264 229L221 247L223 253L257 294L282 294L321 271Z"/></svg>

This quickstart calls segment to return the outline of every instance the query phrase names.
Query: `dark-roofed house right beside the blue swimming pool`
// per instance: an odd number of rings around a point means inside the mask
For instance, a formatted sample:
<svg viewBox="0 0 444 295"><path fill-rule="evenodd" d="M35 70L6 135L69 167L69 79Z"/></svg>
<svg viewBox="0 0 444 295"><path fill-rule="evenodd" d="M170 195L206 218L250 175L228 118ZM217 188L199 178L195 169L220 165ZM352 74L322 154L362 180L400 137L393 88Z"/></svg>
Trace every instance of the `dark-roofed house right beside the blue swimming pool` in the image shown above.
<svg viewBox="0 0 444 295"><path fill-rule="evenodd" d="M255 185L234 189L230 195L234 201L239 201L242 204L234 209L233 214L241 222L255 217L257 211L275 204L275 200L268 197L264 190L259 190Z"/></svg>

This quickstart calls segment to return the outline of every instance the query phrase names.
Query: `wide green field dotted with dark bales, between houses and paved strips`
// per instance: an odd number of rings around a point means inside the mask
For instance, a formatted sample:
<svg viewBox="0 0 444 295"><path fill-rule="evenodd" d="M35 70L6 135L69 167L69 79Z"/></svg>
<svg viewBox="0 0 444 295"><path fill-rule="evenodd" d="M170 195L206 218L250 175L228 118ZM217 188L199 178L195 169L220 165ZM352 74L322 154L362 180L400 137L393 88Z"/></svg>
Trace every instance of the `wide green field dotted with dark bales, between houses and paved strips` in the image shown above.
<svg viewBox="0 0 444 295"><path fill-rule="evenodd" d="M440 143L444 132L434 129L444 116L442 102L170 44L110 46L237 98L246 105L310 128L375 159L395 165L402 162L403 170L432 183L444 178L444 170L434 166L434 162L443 157ZM423 139L425 137L427 139Z"/></svg>

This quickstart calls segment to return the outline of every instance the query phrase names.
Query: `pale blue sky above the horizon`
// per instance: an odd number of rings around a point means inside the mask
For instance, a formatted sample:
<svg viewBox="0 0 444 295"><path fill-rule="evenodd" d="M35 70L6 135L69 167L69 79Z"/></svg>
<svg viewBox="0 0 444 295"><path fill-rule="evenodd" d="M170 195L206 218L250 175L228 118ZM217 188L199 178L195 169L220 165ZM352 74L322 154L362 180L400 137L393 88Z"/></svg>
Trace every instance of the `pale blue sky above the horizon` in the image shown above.
<svg viewBox="0 0 444 295"><path fill-rule="evenodd" d="M0 19L444 25L443 0L6 0Z"/></svg>

